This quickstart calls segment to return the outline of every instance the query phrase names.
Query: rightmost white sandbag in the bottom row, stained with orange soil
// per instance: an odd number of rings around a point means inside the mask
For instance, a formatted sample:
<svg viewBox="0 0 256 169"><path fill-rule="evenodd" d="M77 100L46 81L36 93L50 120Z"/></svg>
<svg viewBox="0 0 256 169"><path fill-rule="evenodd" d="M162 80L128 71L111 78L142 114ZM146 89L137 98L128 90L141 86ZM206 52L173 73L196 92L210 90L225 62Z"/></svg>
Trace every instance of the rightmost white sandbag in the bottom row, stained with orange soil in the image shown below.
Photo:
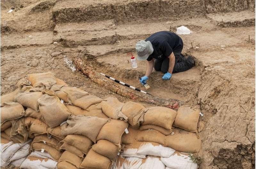
<svg viewBox="0 0 256 169"><path fill-rule="evenodd" d="M161 161L172 169L197 169L197 164L188 157L188 153L176 151L169 158L161 157Z"/></svg>

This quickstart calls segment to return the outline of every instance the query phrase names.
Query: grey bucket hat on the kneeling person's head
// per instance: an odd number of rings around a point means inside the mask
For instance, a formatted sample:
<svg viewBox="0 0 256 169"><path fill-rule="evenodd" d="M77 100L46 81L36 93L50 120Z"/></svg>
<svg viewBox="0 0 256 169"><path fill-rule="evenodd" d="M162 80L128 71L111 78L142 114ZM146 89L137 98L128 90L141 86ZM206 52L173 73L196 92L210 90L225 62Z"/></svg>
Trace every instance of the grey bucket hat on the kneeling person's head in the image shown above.
<svg viewBox="0 0 256 169"><path fill-rule="evenodd" d="M146 60L154 51L151 42L145 40L140 40L138 43L136 43L135 49L138 54L138 61Z"/></svg>

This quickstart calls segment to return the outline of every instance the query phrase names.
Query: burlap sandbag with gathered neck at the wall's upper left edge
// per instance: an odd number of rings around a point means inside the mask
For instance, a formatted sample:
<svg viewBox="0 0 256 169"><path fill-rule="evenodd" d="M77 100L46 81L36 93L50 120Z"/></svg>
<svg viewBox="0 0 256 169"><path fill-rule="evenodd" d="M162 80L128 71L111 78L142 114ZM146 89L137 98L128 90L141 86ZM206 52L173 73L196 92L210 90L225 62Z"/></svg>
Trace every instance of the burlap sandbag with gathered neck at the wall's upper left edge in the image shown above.
<svg viewBox="0 0 256 169"><path fill-rule="evenodd" d="M13 102L14 101L14 97L19 93L19 92L24 92L26 90L28 90L29 88L31 88L32 86L29 85L29 83L24 80L21 79L17 84L16 84L17 89L13 92L10 92L8 94L2 95L1 96L1 104L4 102Z"/></svg>

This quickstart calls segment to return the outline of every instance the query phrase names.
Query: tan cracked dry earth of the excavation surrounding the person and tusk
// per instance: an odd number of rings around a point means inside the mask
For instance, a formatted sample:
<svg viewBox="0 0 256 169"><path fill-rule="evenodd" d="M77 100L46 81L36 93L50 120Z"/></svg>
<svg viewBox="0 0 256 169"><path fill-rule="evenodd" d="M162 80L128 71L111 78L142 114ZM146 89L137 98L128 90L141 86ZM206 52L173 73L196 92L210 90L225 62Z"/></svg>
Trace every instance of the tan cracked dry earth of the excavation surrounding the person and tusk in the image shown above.
<svg viewBox="0 0 256 169"><path fill-rule="evenodd" d="M1 95L29 73L52 71L98 97L129 101L84 77L72 59L83 58L96 71L143 89L138 77L145 62L132 69L127 53L152 33L184 25L192 34L180 35L183 53L194 56L196 66L170 81L157 80L162 74L153 71L148 92L200 105L200 168L254 168L254 6L253 0L2 0Z"/></svg>

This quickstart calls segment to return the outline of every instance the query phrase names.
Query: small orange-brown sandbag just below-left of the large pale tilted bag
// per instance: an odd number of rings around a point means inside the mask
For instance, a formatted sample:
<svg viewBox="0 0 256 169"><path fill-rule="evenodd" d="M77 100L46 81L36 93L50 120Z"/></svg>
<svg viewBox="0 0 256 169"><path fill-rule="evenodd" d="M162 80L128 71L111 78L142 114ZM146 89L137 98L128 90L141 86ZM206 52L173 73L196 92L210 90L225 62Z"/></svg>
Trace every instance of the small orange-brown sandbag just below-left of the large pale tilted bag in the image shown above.
<svg viewBox="0 0 256 169"><path fill-rule="evenodd" d="M47 134L47 125L40 121L40 120L34 120L33 123L30 125L29 128L29 134L35 135L36 134Z"/></svg>

